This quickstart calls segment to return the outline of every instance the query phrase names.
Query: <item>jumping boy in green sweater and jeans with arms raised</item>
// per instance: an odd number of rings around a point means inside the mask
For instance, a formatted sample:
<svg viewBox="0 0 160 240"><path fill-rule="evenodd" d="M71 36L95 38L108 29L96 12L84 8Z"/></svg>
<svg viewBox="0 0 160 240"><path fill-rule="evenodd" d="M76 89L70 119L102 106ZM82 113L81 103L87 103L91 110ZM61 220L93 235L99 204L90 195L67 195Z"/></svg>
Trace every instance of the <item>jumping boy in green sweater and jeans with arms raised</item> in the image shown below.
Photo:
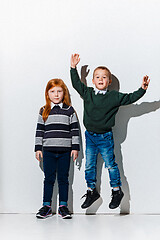
<svg viewBox="0 0 160 240"><path fill-rule="evenodd" d="M87 87L80 81L76 70L79 61L78 54L71 56L72 85L84 100L83 123L86 127L85 180L88 190L81 207L88 208L100 197L96 190L96 164L97 155L100 153L105 167L108 168L110 185L113 188L109 208L115 209L120 205L124 196L114 156L112 127L115 125L115 115L120 106L134 103L145 94L150 79L147 75L144 76L141 88L130 94L108 91L107 87L112 82L111 72L106 67L97 67L93 72L94 88Z"/></svg>

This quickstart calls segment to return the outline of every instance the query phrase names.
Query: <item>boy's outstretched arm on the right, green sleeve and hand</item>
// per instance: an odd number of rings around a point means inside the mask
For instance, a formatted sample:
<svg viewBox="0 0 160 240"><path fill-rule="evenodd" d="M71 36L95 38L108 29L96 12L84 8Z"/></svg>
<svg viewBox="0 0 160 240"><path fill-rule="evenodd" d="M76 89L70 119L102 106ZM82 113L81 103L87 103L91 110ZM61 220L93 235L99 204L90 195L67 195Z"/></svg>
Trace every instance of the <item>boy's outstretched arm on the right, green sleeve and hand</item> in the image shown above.
<svg viewBox="0 0 160 240"><path fill-rule="evenodd" d="M119 93L119 106L128 105L139 100L146 93L149 82L150 82L150 79L146 75L143 77L142 85L137 91L134 91L133 93L126 93L126 94Z"/></svg>

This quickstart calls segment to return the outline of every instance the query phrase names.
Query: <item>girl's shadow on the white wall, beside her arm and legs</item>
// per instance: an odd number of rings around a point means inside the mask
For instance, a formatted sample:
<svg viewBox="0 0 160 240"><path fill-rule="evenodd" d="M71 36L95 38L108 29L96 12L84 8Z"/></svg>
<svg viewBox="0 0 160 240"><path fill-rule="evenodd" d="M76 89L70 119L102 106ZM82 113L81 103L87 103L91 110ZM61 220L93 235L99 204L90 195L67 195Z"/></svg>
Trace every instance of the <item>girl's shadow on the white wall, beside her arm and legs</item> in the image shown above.
<svg viewBox="0 0 160 240"><path fill-rule="evenodd" d="M79 123L79 121L78 121L78 123ZM79 124L79 132L80 132L80 151L79 151L78 158L77 158L75 164L76 164L76 166L78 166L78 169L80 170L81 166L82 166L82 159L84 158L80 124ZM40 166L41 170L43 171L43 160L39 163L39 166ZM70 170L69 170L68 180L69 180L68 208L69 208L70 212L73 213L73 189L72 189L72 185L73 185L73 180L74 180L74 162L73 162L72 158L71 158L71 162L70 162ZM58 182L57 182L57 177L56 177L56 181L55 181L54 187L53 187L53 196L52 196L52 211L53 211L53 214L55 214L57 212L57 207L59 206L59 202L57 201L57 198L58 198Z"/></svg>

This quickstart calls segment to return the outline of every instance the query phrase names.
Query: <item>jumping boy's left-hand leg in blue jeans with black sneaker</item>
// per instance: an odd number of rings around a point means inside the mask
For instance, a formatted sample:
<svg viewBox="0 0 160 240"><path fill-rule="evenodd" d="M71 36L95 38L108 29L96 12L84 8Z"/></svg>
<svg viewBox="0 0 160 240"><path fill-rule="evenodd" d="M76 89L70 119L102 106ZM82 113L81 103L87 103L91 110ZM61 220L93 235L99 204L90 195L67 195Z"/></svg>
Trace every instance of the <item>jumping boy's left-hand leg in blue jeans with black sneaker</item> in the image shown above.
<svg viewBox="0 0 160 240"><path fill-rule="evenodd" d="M85 179L87 182L87 193L84 195L86 200L81 205L82 208L88 208L99 197L99 193L96 190L96 173L97 173L97 155L98 149L96 146L96 139L94 135L88 131L85 132L86 137L86 164L85 164Z"/></svg>

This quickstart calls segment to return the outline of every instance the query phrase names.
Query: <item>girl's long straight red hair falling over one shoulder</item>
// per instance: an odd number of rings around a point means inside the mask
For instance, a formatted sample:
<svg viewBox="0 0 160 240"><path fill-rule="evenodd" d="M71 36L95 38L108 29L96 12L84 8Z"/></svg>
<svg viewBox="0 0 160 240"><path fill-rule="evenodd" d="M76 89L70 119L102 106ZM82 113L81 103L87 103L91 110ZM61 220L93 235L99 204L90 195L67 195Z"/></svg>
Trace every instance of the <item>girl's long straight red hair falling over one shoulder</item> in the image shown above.
<svg viewBox="0 0 160 240"><path fill-rule="evenodd" d="M42 118L43 118L44 122L47 120L48 115L51 111L51 100L49 99L48 91L53 87L61 87L63 89L63 94L64 94L62 102L65 103L68 106L71 105L71 99L70 99L69 91L68 91L67 86L63 82L63 80L58 79L58 78L51 79L47 83L46 90L45 90L46 105L41 108L41 110L43 109Z"/></svg>

